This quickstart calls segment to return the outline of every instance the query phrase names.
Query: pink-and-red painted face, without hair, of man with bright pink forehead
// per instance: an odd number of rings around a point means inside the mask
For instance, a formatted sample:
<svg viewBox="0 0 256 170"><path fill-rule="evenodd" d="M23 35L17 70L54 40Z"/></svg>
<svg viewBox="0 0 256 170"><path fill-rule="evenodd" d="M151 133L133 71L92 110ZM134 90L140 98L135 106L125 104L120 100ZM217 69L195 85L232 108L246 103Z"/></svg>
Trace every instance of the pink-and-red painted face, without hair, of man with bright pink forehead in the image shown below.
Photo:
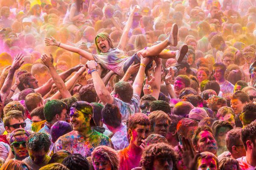
<svg viewBox="0 0 256 170"><path fill-rule="evenodd" d="M207 130L203 130L198 134L198 142L197 145L195 146L195 149L197 151L199 151L200 153L208 151L213 154L216 154L217 147L217 142L212 133L210 133Z"/></svg>

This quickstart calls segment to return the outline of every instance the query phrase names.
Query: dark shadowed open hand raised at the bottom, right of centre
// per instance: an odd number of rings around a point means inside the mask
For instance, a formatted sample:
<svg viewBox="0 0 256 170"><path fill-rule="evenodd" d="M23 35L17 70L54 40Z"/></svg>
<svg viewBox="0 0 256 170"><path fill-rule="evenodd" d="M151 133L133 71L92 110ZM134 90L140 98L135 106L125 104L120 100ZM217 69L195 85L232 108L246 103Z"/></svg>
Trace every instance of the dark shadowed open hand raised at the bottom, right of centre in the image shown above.
<svg viewBox="0 0 256 170"><path fill-rule="evenodd" d="M195 150L189 142L189 139L186 139L184 137L182 138L182 146L183 148L178 145L183 162L186 165L187 169L197 170L198 158L200 157L200 153L195 154Z"/></svg>

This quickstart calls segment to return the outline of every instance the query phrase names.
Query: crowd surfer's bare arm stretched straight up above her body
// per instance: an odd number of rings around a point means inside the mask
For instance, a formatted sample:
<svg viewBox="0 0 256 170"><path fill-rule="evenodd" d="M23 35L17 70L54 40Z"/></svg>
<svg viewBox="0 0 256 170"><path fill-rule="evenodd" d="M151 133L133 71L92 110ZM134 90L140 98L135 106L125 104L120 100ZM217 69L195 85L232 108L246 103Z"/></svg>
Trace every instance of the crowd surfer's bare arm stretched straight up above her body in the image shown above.
<svg viewBox="0 0 256 170"><path fill-rule="evenodd" d="M126 25L125 25L125 28L123 29L123 33L122 33L120 42L117 45L117 48L120 48L122 50L125 50L126 41L127 41L127 38L128 38L128 33L129 33L130 29L131 29L132 20L133 20L133 16L134 16L135 10L136 10L136 6L131 11L131 14L130 14L130 16L128 18L128 21L127 21Z"/></svg>

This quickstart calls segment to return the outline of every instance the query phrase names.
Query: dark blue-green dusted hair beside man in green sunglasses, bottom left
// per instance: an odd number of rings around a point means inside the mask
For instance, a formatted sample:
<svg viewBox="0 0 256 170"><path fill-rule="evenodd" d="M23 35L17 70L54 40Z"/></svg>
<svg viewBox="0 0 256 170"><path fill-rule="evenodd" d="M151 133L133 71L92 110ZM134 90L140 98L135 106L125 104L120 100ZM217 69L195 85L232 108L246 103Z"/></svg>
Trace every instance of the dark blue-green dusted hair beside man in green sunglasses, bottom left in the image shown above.
<svg viewBox="0 0 256 170"><path fill-rule="evenodd" d="M45 152L48 152L50 145L51 140L46 133L33 133L26 140L26 147L28 150L44 150Z"/></svg>

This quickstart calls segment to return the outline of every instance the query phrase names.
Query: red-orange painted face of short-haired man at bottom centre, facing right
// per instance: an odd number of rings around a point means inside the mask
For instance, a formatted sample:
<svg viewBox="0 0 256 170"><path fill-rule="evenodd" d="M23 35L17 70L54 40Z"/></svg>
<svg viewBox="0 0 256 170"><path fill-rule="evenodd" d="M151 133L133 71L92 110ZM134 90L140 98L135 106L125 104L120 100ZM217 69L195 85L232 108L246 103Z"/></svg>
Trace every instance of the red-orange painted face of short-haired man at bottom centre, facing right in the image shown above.
<svg viewBox="0 0 256 170"><path fill-rule="evenodd" d="M131 137L131 142L133 142L133 144L136 147L140 147L140 145L142 144L142 139L145 140L148 135L150 133L150 126L149 125L136 125L136 128L134 128L133 130L129 129L129 135Z"/></svg>

